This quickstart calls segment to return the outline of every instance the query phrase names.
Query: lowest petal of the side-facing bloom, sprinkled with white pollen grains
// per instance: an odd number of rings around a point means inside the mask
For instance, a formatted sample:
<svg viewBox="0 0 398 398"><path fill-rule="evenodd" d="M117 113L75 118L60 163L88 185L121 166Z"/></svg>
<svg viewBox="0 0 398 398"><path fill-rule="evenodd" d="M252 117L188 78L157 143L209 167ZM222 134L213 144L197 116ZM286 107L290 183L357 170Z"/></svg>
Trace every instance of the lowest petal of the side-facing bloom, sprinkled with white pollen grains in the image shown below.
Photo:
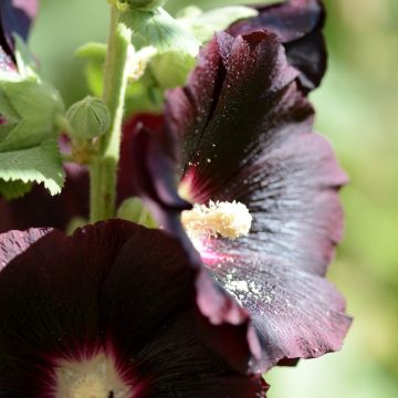
<svg viewBox="0 0 398 398"><path fill-rule="evenodd" d="M313 358L341 348L350 318L326 280L265 254L224 255L212 271L248 310L261 336L263 355L252 362L254 371L283 358Z"/></svg>

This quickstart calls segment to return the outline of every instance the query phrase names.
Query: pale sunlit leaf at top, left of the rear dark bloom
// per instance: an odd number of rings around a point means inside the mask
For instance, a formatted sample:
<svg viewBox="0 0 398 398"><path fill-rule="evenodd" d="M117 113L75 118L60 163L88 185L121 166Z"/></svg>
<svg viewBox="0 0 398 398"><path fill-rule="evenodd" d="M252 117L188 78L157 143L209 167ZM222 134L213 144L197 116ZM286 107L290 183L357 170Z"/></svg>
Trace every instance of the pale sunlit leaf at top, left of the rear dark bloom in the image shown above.
<svg viewBox="0 0 398 398"><path fill-rule="evenodd" d="M258 14L254 8L243 6L221 7L209 11L190 6L178 14L177 21L201 43L206 43L216 32L227 29L233 22Z"/></svg>

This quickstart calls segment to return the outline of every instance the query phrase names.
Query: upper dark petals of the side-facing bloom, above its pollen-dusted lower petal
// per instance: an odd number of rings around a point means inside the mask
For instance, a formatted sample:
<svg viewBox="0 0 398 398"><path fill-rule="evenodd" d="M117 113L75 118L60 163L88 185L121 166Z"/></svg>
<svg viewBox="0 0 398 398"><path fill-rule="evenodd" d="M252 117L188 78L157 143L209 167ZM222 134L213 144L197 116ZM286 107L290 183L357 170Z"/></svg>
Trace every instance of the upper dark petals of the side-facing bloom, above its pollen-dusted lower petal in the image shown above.
<svg viewBox="0 0 398 398"><path fill-rule="evenodd" d="M214 80L201 67L169 97L166 121L186 139L181 185L192 202L238 200L249 208L251 233L228 245L261 248L323 275L341 239L336 190L346 177L326 142L311 133L313 109L275 38L264 32L238 38L229 54L224 43L216 39L202 53L210 71L224 65L212 112L203 109L213 97L197 87ZM223 48L219 59L214 46Z"/></svg>

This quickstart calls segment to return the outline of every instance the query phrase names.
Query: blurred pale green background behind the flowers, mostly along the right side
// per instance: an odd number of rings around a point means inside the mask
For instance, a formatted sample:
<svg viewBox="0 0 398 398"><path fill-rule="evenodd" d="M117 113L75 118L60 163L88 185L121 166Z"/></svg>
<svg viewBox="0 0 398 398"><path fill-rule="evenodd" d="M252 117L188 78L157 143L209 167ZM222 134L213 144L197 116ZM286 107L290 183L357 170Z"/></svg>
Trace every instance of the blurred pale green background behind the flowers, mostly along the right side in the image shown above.
<svg viewBox="0 0 398 398"><path fill-rule="evenodd" d="M243 1L245 3L250 1ZM252 1L259 3L259 1ZM235 0L170 0L216 7ZM329 277L355 321L344 349L266 375L271 398L398 397L398 1L326 0L329 69L312 95L317 128L350 176L346 234ZM31 45L71 103L85 93L75 48L104 41L105 0L41 0ZM210 397L209 397L210 398Z"/></svg>

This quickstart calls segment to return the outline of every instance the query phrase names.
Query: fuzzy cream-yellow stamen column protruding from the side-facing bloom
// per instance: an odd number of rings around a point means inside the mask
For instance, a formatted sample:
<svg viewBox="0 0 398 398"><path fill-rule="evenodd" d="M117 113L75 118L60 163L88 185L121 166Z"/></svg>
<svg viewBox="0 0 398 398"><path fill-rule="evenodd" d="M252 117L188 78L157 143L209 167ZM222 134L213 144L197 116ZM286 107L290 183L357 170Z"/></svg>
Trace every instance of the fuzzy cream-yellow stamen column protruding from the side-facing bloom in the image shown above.
<svg viewBox="0 0 398 398"><path fill-rule="evenodd" d="M245 205L232 201L209 201L195 205L181 214L182 224L191 239L203 235L237 239L249 234L253 218Z"/></svg>

